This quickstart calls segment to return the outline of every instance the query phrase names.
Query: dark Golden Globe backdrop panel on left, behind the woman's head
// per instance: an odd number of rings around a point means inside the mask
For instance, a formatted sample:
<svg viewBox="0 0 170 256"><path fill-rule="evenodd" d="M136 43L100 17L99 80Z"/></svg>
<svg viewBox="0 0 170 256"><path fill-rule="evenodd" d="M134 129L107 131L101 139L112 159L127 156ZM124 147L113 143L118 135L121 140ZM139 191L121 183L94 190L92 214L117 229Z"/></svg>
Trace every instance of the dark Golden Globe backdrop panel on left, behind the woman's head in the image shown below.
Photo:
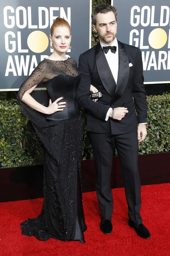
<svg viewBox="0 0 170 256"><path fill-rule="evenodd" d="M8 0L0 6L0 90L18 90L37 64L47 58L50 27L66 19L72 32L67 55L78 61L91 47L91 0Z"/></svg>

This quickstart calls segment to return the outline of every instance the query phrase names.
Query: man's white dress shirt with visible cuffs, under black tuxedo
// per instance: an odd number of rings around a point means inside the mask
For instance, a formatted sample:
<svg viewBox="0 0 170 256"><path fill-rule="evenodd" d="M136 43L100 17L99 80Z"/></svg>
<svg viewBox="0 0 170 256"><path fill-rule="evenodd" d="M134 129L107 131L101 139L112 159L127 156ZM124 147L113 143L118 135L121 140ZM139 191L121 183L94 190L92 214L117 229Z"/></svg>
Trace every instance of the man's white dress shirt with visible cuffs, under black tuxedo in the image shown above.
<svg viewBox="0 0 170 256"><path fill-rule="evenodd" d="M108 46L107 44L104 44L103 42L100 41L100 45L103 49L103 46ZM111 46L116 46L116 52L113 53L111 52L111 50L109 49L108 50L108 53L105 53L104 52L104 55L106 57L106 60L108 62L108 65L110 67L110 70L112 72L112 75L115 79L115 82L117 84L117 81L118 81L118 69L119 69L119 57L118 57L118 41L117 39L115 38L115 41L111 44ZM110 111L112 110L112 108L109 108L107 114L106 114L106 121L108 120L109 118L109 114L110 114ZM147 124L147 123L140 123L140 124Z"/></svg>

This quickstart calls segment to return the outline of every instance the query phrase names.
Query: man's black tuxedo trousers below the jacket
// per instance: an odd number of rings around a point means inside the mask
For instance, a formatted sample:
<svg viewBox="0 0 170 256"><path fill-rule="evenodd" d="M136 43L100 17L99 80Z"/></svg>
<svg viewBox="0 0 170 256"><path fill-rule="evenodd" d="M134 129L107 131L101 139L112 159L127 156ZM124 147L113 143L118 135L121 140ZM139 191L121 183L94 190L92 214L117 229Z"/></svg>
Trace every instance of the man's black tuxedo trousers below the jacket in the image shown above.
<svg viewBox="0 0 170 256"><path fill-rule="evenodd" d="M110 187L110 174L113 154L116 147L123 174L128 216L138 227L140 216L141 185L138 171L137 131L111 135L110 133L90 133L96 166L96 194L102 218L110 219L113 213L113 196Z"/></svg>

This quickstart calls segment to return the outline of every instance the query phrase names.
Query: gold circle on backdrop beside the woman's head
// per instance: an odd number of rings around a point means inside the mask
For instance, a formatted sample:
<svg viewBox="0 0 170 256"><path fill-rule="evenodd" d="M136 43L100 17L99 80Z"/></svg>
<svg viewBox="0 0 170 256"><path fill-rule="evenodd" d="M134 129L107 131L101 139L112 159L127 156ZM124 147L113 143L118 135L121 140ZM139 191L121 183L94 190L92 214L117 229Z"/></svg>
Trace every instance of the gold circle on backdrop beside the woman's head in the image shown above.
<svg viewBox="0 0 170 256"><path fill-rule="evenodd" d="M47 35L42 31L33 31L27 39L31 51L40 53L47 49L49 41Z"/></svg>

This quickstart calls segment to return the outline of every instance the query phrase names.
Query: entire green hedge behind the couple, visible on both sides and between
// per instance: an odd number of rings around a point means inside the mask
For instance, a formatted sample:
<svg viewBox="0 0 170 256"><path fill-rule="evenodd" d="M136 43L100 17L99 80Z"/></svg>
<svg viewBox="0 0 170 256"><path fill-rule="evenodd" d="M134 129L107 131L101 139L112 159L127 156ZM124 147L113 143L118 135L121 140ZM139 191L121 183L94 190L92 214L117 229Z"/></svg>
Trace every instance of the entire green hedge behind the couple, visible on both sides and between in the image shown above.
<svg viewBox="0 0 170 256"><path fill-rule="evenodd" d="M24 117L16 99L0 97L0 166L17 167L42 164L43 149L40 140ZM169 152L170 94L149 96L147 137L139 144L139 154ZM86 132L87 112L81 109L84 122L82 159L93 159L89 135Z"/></svg>

